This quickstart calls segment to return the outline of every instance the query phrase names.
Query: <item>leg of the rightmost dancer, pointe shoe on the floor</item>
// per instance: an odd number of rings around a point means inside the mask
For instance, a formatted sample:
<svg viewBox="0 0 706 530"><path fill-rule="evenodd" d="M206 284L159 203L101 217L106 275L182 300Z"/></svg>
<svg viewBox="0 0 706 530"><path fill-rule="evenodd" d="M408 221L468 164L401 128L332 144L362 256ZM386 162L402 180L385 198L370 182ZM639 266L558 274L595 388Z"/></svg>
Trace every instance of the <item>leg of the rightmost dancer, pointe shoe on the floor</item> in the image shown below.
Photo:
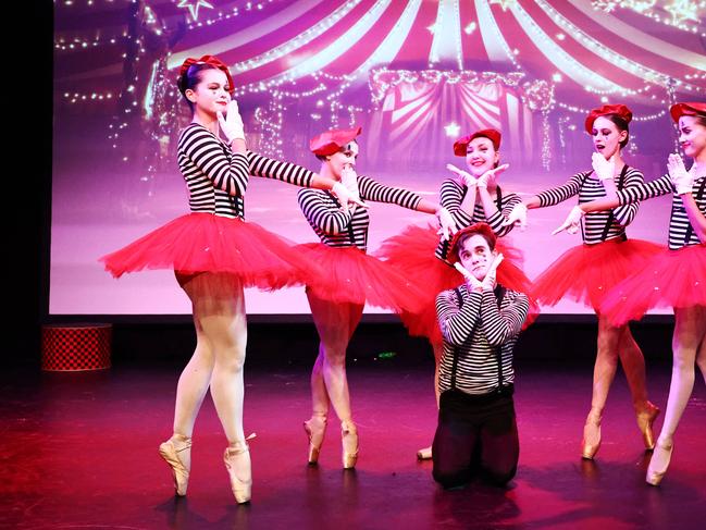
<svg viewBox="0 0 706 530"><path fill-rule="evenodd" d="M694 389L694 363L697 361L704 373L706 350L706 308L696 306L674 308L674 334L672 337L673 362L669 397L655 452L647 468L647 482L657 485L669 466L673 448L673 436L686 403ZM698 354L698 360L697 360Z"/></svg>

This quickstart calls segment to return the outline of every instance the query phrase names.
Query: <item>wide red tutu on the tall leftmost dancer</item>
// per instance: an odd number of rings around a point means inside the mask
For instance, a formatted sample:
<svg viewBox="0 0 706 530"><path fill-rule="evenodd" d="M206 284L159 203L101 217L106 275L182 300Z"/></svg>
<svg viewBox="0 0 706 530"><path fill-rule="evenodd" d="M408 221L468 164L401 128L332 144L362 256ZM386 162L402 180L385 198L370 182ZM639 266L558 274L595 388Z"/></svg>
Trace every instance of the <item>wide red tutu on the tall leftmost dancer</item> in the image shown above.
<svg viewBox="0 0 706 530"><path fill-rule="evenodd" d="M304 284L318 268L287 242L256 223L189 213L100 258L120 278L144 269L228 273L244 287L275 289Z"/></svg>

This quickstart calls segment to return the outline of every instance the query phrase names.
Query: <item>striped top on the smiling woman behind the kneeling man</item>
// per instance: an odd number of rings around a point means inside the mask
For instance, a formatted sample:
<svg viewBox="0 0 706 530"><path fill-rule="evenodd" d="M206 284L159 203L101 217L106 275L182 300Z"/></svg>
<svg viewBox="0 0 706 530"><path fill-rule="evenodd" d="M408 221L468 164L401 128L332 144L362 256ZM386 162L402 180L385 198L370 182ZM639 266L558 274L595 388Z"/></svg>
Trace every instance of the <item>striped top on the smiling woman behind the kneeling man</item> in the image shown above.
<svg viewBox="0 0 706 530"><path fill-rule="evenodd" d="M454 218L456 226L459 230L465 229L466 226L470 226L473 223L485 222L490 224L491 229L493 229L493 232L495 232L495 235L503 237L515 227L515 224L503 226L503 223L507 220L507 217L512 211L512 208L515 208L517 204L521 202L519 195L503 195L500 188L498 187L497 194L499 201L496 201L497 211L492 215L486 215L483 205L476 202L473 207L473 214L471 215L469 214L469 212L465 211L461 208L461 204L463 202L463 198L466 197L467 193L468 187L459 184L453 178L445 180L442 183L439 190L439 202L449 211L449 213ZM450 242L448 241L439 241L438 245L436 246L434 256L436 256L441 260L446 261L449 251L449 243Z"/></svg>

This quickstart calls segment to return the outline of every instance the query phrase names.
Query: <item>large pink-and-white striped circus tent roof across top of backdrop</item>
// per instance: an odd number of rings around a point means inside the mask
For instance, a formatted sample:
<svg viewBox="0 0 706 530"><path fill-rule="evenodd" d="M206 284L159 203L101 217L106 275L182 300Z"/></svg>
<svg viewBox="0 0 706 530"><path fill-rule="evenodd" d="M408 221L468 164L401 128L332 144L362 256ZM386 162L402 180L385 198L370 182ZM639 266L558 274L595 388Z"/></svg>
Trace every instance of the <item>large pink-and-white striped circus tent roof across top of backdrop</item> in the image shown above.
<svg viewBox="0 0 706 530"><path fill-rule="evenodd" d="M129 1L55 3L57 88L120 90ZM188 28L168 66L216 54L238 94L276 86L305 90L312 74L368 84L373 69L521 72L554 83L557 100L600 97L664 108L671 86L706 98L706 7L678 0L154 0L152 40L181 17ZM630 4L629 7L621 7ZM195 15L198 19L195 20ZM680 27L681 26L681 27ZM164 32L164 33L163 33ZM91 45L91 39L100 45ZM67 48L70 42L88 41ZM98 50L102 52L98 52ZM343 82L342 82L343 83Z"/></svg>

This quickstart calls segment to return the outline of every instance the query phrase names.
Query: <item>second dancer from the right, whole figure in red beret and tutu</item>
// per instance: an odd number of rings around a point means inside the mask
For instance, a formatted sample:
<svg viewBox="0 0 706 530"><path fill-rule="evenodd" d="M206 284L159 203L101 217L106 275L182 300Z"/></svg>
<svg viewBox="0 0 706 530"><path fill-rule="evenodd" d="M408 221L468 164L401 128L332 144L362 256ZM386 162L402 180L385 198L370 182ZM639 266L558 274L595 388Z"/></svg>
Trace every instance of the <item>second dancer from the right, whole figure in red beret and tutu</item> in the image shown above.
<svg viewBox="0 0 706 530"><path fill-rule="evenodd" d="M629 140L632 113L624 104L605 104L591 111L585 128L593 137L596 150L593 171L577 173L554 189L543 192L517 207L511 220L523 219L527 208L544 208L562 202L575 195L579 204L605 197L616 186L626 193L644 180L640 171L630 168L621 157ZM600 446L600 420L616 375L618 359L628 379L637 427L647 449L655 445L652 424L659 409L647 400L645 360L628 325L614 325L598 310L606 293L660 250L649 242L628 239L628 226L637 213L637 204L595 212L581 225L583 245L561 255L534 281L536 299L555 305L565 296L592 307L598 316L598 344L593 372L591 411L583 429L581 456L591 459ZM527 208L525 208L527 207Z"/></svg>

